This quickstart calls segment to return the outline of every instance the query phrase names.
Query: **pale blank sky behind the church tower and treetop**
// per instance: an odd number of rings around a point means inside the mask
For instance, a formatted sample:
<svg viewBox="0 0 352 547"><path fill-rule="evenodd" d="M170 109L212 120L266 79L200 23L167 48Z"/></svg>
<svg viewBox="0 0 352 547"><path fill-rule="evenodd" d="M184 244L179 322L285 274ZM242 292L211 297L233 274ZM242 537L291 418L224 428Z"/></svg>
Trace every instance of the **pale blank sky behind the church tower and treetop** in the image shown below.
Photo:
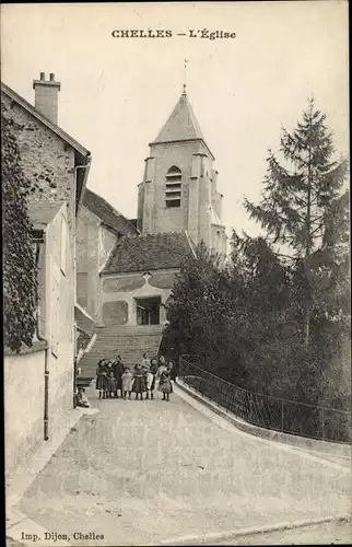
<svg viewBox="0 0 352 547"><path fill-rule="evenodd" d="M133 28L173 36L112 36ZM281 128L294 129L308 97L326 112L339 155L349 152L345 1L1 5L2 81L34 104L33 80L55 73L59 125L92 153L87 187L128 218L137 217L148 144L183 91L184 59L227 234L256 235L244 196L260 199L267 151L279 150Z"/></svg>

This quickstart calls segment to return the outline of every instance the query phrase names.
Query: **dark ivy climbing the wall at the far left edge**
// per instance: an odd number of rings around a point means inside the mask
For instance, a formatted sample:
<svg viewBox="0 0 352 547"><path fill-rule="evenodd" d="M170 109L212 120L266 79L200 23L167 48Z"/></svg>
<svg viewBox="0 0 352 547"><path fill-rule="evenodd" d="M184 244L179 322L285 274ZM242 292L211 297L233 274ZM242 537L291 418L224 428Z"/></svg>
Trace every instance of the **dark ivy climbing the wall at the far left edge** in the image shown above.
<svg viewBox="0 0 352 547"><path fill-rule="evenodd" d="M32 346L36 328L37 271L26 210L31 184L21 166L15 124L1 104L4 346Z"/></svg>

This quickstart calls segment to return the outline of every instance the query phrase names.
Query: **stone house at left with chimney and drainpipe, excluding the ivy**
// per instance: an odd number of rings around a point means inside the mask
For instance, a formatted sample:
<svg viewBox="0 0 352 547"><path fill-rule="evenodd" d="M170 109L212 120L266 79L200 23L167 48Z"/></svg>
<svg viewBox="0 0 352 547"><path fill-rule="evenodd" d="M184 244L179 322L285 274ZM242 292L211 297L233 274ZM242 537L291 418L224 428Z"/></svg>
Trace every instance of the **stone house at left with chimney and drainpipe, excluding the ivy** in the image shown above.
<svg viewBox="0 0 352 547"><path fill-rule="evenodd" d="M5 351L7 474L55 438L73 407L75 224L91 163L90 152L57 125L60 83L54 74L46 80L42 73L33 86L35 106L1 84L33 187L28 213L39 280L37 339L20 354Z"/></svg>

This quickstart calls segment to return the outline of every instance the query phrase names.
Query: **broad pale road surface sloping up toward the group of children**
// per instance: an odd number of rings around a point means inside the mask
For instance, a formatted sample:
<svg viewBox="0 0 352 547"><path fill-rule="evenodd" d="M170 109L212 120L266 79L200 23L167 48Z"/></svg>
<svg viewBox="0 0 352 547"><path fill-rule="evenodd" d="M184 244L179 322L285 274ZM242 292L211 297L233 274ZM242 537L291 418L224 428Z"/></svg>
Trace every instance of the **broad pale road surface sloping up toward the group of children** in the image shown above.
<svg viewBox="0 0 352 547"><path fill-rule="evenodd" d="M71 430L19 507L73 545L155 545L350 508L347 469L222 429L176 394L95 397L101 412Z"/></svg>

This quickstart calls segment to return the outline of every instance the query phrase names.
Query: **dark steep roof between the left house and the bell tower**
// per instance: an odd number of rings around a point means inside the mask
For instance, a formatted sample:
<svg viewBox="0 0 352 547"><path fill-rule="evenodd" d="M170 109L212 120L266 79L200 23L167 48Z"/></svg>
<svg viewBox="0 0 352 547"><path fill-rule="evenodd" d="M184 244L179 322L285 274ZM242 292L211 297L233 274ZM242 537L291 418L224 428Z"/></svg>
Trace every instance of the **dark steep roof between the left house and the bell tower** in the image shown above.
<svg viewBox="0 0 352 547"><path fill-rule="evenodd" d="M136 226L124 214L112 207L104 198L86 188L83 206L98 217L103 224L122 235L138 234Z"/></svg>

